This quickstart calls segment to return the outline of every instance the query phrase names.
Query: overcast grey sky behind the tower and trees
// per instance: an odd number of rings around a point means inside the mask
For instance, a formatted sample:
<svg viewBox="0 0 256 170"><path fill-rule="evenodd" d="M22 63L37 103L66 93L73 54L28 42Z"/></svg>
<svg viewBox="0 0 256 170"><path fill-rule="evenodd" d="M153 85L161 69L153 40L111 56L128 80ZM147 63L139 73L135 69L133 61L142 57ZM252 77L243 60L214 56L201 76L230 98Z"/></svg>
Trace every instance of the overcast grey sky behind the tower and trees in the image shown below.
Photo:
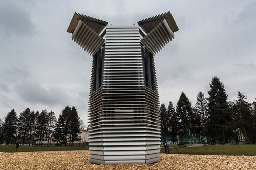
<svg viewBox="0 0 256 170"><path fill-rule="evenodd" d="M180 30L155 56L160 102L194 105L215 75L230 101L255 101L255 1L0 1L0 118L70 105L86 122L92 57L66 32L74 12L132 25L167 11Z"/></svg>

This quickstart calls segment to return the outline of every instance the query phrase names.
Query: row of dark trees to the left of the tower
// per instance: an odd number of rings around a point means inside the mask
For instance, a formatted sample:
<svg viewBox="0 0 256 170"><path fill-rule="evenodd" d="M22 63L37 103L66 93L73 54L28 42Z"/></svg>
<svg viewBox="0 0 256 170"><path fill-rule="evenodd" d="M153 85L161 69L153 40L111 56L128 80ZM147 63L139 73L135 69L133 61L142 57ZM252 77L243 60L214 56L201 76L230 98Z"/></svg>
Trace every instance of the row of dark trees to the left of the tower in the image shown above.
<svg viewBox="0 0 256 170"><path fill-rule="evenodd" d="M80 140L78 134L84 128L83 121L78 116L76 108L66 106L58 119L53 111L31 111L25 109L17 116L12 109L7 116L0 119L0 144L29 145L73 145Z"/></svg>

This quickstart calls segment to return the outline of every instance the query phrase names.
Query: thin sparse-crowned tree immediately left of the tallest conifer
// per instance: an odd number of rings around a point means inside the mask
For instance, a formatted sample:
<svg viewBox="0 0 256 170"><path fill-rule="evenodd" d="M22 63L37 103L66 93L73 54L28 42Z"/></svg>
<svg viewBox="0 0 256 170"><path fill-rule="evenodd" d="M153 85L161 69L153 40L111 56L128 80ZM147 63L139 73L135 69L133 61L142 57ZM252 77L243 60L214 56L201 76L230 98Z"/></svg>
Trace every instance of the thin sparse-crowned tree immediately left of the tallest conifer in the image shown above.
<svg viewBox="0 0 256 170"><path fill-rule="evenodd" d="M199 91L199 93L197 94L195 111L200 116L201 127L203 127L202 135L205 135L207 138L207 121L209 117L207 112L207 99L205 98L204 93L202 93L201 91Z"/></svg>

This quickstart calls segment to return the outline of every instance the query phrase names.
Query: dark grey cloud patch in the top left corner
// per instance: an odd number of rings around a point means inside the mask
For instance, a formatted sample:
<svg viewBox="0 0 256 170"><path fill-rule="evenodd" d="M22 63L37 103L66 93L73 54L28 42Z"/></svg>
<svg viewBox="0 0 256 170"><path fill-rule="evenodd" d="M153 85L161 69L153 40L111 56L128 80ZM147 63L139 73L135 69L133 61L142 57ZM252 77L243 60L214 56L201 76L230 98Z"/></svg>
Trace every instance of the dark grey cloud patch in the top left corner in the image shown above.
<svg viewBox="0 0 256 170"><path fill-rule="evenodd" d="M6 36L16 34L28 35L34 32L30 13L15 3L3 1L0 3L0 30Z"/></svg>

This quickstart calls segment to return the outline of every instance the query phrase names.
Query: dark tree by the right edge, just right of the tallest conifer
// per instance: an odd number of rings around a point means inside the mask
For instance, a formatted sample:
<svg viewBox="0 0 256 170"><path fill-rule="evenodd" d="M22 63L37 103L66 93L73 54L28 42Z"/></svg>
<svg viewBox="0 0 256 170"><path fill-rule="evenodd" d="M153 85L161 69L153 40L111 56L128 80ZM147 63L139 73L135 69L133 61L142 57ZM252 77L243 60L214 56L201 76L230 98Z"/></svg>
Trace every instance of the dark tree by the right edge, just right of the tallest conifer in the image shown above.
<svg viewBox="0 0 256 170"><path fill-rule="evenodd" d="M253 139L252 130L255 129L255 116L252 114L252 108L249 102L246 101L246 96L238 91L237 98L232 107L233 125L241 130L245 142L250 143L250 139Z"/></svg>

